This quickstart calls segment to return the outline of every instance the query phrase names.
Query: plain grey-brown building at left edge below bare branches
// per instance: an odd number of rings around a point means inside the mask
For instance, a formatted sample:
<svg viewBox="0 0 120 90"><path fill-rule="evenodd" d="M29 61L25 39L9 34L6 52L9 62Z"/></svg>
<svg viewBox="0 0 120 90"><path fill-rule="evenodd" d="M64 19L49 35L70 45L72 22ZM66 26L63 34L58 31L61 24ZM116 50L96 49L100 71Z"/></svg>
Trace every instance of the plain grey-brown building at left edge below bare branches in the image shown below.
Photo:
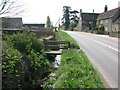
<svg viewBox="0 0 120 90"><path fill-rule="evenodd" d="M0 30L20 30L22 26L23 26L22 18L18 18L18 17L0 18Z"/></svg>

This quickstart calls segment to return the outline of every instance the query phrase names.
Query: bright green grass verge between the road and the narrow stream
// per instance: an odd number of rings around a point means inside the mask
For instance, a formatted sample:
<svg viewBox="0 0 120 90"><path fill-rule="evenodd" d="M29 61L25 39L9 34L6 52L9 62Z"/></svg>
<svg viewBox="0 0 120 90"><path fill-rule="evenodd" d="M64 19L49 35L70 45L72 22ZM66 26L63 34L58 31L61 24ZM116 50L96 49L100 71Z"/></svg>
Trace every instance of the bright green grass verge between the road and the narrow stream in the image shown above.
<svg viewBox="0 0 120 90"><path fill-rule="evenodd" d="M59 34L62 40L71 41L75 49L62 51L56 76L49 80L49 83L52 83L55 88L104 88L98 73L85 53L76 49L78 47L76 41L65 32L61 31Z"/></svg>

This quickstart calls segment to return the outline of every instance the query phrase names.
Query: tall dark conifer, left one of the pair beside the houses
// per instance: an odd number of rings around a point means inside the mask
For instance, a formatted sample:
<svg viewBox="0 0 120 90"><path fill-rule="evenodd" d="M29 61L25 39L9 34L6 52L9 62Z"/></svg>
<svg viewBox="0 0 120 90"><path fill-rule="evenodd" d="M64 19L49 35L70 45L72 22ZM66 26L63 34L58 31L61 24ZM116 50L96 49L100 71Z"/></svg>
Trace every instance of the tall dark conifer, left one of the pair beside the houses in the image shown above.
<svg viewBox="0 0 120 90"><path fill-rule="evenodd" d="M69 28L69 24L70 24L70 6L63 6L63 18L62 20L62 24L65 26L65 29Z"/></svg>

